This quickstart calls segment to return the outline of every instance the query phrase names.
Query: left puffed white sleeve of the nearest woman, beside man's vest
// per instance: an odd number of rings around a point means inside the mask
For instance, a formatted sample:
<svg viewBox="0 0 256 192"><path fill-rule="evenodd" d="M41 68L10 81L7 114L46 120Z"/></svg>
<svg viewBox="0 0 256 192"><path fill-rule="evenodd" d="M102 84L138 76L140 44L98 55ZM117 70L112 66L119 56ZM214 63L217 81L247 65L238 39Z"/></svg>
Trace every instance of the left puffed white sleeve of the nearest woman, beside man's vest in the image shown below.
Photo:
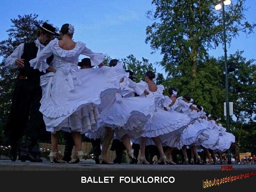
<svg viewBox="0 0 256 192"><path fill-rule="evenodd" d="M50 57L52 52L52 41L41 50L38 56L32 60L30 60L30 66L34 69L38 69L39 71L45 71L49 65L45 62L45 59Z"/></svg>

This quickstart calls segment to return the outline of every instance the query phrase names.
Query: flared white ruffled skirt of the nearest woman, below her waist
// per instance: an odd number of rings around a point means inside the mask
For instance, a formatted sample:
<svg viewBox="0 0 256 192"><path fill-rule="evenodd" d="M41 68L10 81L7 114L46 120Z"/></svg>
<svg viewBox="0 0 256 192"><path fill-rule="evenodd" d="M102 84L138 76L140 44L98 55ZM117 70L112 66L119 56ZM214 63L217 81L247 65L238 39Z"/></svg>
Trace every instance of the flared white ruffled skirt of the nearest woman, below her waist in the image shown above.
<svg viewBox="0 0 256 192"><path fill-rule="evenodd" d="M127 75L126 73L123 76ZM41 76L43 95L40 111L46 129L94 132L99 110L113 100L122 74L114 68L64 69ZM101 105L102 104L102 105ZM98 107L98 108L97 108Z"/></svg>

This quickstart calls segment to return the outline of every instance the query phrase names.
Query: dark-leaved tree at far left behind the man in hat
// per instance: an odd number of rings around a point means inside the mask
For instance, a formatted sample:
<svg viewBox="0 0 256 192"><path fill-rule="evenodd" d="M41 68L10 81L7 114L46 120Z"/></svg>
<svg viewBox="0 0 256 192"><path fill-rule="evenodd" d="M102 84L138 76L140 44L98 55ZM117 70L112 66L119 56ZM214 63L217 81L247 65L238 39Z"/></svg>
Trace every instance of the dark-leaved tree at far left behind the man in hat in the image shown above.
<svg viewBox="0 0 256 192"><path fill-rule="evenodd" d="M2 119L2 124L5 124L10 111L12 92L18 72L16 69L7 69L4 60L19 44L33 42L37 38L37 26L42 25L43 22L48 22L48 20L38 20L37 17L38 15L36 14L30 14L18 15L18 18L11 19L12 26L6 31L9 37L0 42L0 57L3 58L0 63L0 118ZM1 129L0 132L2 132Z"/></svg>

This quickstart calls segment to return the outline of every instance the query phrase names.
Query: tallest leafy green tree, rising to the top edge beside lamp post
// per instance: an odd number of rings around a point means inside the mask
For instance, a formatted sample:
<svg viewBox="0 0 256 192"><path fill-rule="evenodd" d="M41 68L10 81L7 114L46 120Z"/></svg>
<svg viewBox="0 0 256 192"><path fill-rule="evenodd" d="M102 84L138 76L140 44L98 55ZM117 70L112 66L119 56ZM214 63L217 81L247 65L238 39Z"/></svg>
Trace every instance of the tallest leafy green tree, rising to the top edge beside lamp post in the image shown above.
<svg viewBox="0 0 256 192"><path fill-rule="evenodd" d="M227 42L239 32L250 34L256 24L245 20L245 0L227 6ZM172 76L186 75L193 81L198 66L207 58L207 50L223 41L221 12L215 11L215 0L153 0L155 11L147 16L154 21L146 27L146 43L164 55L161 65ZM194 87L195 88L195 87Z"/></svg>

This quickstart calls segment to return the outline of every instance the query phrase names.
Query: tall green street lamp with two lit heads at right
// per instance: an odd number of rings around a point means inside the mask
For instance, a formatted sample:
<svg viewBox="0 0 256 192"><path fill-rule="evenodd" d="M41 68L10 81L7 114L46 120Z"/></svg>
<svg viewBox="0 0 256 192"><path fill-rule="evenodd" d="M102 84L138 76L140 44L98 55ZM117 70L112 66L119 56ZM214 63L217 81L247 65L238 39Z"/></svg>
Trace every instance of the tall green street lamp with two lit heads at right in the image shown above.
<svg viewBox="0 0 256 192"><path fill-rule="evenodd" d="M227 50L226 50L226 27L225 27L225 5L230 5L231 0L220 0L217 5L214 6L215 10L222 9L222 19L223 19L223 35L224 35L224 60L225 60L225 89L226 89L226 127L227 131L230 133L229 128L229 98L228 98L228 66L227 66ZM231 164L231 154L228 150L228 164Z"/></svg>

